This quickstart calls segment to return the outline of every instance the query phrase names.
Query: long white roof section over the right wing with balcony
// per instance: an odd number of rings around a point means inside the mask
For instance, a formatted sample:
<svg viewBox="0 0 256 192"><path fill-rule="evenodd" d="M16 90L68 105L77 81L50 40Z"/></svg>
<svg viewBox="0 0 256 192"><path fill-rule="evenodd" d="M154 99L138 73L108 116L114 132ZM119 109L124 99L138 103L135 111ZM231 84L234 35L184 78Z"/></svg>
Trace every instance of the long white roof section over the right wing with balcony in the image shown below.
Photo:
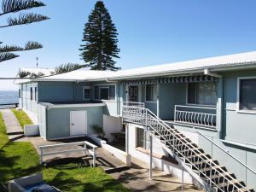
<svg viewBox="0 0 256 192"><path fill-rule="evenodd" d="M256 67L256 51L128 69L113 74L109 79L152 77L154 75L172 75L177 73L191 73L193 71L201 71L201 73L203 73L204 69L219 69L237 66L246 67L248 65Z"/></svg>

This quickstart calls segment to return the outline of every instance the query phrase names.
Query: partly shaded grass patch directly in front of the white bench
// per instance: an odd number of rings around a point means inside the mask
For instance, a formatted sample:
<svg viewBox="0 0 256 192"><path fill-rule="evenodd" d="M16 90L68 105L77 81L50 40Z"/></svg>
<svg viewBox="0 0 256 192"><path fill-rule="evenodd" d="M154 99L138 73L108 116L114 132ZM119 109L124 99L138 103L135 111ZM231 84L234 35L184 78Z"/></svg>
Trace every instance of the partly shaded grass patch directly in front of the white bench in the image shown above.
<svg viewBox="0 0 256 192"><path fill-rule="evenodd" d="M80 158L52 160L44 169L47 183L63 191L130 191L100 168Z"/></svg>

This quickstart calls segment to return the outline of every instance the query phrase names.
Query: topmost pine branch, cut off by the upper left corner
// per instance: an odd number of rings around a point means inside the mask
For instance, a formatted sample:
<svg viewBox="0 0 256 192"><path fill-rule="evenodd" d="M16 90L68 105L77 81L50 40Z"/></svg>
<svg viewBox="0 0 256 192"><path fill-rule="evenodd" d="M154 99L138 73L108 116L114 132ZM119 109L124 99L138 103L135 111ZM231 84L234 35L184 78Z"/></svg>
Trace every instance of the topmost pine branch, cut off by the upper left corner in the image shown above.
<svg viewBox="0 0 256 192"><path fill-rule="evenodd" d="M34 0L3 0L2 11L0 15L18 12L20 10L32 9L45 6L44 3Z"/></svg>

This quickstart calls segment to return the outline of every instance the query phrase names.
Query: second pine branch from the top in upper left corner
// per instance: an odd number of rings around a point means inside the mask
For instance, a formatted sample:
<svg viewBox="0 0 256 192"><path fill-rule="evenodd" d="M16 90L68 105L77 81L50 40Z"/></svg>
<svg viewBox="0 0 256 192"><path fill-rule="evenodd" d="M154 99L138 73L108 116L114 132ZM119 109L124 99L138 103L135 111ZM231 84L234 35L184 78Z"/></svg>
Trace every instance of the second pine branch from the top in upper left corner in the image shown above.
<svg viewBox="0 0 256 192"><path fill-rule="evenodd" d="M25 25L25 24L30 24L34 22L39 22L42 20L49 20L49 17L45 15L33 14L33 13L20 14L18 18L9 17L9 19L7 20L8 25L0 26L0 28L8 27L8 26Z"/></svg>

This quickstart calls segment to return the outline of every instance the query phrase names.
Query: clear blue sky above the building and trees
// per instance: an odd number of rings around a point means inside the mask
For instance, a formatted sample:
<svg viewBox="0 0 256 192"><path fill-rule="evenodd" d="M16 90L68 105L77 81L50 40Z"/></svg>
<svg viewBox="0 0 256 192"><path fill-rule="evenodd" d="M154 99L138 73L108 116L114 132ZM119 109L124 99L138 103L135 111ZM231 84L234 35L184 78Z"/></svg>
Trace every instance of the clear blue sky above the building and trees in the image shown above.
<svg viewBox="0 0 256 192"><path fill-rule="evenodd" d="M20 53L0 63L0 77L15 77L19 67L54 68L81 63L84 23L96 0L42 0L44 8L29 10L51 19L0 30L4 44L38 41L43 49ZM104 0L119 32L122 69L256 50L255 0ZM3 25L8 16L1 17ZM0 80L0 90L16 90Z"/></svg>

